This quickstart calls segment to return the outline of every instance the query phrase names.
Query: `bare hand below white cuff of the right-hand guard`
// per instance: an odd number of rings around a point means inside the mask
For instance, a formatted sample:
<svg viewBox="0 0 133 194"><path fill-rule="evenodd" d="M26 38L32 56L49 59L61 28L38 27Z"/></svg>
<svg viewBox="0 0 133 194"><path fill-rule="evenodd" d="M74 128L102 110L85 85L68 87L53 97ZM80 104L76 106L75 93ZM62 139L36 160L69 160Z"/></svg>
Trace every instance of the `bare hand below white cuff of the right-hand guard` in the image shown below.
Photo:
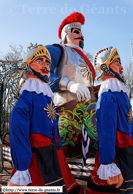
<svg viewBox="0 0 133 194"><path fill-rule="evenodd" d="M121 185L122 185L122 183L123 183L123 177L122 177L122 174L119 174L119 175L117 175L117 176L114 176L114 177L110 177L107 181L106 181L106 183L108 184L108 185L115 185L116 186L116 189L118 189Z"/></svg>

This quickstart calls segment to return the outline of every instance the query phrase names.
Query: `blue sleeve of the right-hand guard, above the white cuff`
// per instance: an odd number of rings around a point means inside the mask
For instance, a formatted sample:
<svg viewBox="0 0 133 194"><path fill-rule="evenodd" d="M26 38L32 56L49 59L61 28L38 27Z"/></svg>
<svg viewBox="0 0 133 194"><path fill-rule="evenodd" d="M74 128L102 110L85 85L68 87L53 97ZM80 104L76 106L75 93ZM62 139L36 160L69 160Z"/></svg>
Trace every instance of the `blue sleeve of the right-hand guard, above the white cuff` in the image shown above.
<svg viewBox="0 0 133 194"><path fill-rule="evenodd" d="M114 97L106 95L101 98L100 108L96 115L100 163L111 164L115 158L117 133L117 103Z"/></svg>

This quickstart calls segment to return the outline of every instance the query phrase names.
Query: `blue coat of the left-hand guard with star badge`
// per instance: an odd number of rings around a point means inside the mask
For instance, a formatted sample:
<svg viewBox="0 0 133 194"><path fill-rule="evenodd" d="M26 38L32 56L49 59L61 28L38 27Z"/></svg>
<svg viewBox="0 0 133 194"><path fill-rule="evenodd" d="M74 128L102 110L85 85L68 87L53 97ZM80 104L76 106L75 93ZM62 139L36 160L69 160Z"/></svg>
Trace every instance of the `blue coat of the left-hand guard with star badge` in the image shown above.
<svg viewBox="0 0 133 194"><path fill-rule="evenodd" d="M55 142L58 132L58 115L51 122L44 108L51 98L42 93L23 91L10 117L11 154L16 170L27 170L32 158L29 142L31 133L46 135ZM53 105L53 102L52 102ZM58 110L56 110L58 112ZM54 131L55 138L52 135Z"/></svg>

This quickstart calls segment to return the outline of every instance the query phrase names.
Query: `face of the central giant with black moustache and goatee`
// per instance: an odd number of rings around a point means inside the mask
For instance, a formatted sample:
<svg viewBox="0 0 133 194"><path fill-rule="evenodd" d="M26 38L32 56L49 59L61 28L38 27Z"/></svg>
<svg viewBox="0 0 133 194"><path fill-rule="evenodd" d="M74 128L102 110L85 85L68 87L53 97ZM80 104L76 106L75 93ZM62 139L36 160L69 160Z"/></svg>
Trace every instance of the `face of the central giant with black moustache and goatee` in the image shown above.
<svg viewBox="0 0 133 194"><path fill-rule="evenodd" d="M80 29L77 28L72 29L71 39L76 45L80 46L81 48L84 47L84 36L82 35Z"/></svg>

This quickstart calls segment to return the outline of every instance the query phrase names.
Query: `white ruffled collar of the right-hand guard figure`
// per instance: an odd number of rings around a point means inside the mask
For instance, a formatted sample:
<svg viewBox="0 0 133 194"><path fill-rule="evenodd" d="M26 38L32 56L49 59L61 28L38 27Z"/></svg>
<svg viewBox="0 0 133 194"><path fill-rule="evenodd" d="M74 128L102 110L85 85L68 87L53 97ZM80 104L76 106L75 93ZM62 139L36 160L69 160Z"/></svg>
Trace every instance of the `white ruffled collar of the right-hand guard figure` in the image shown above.
<svg viewBox="0 0 133 194"><path fill-rule="evenodd" d="M109 78L102 82L98 96L101 96L103 92L125 92L128 93L128 90L123 82L119 81L117 78Z"/></svg>

